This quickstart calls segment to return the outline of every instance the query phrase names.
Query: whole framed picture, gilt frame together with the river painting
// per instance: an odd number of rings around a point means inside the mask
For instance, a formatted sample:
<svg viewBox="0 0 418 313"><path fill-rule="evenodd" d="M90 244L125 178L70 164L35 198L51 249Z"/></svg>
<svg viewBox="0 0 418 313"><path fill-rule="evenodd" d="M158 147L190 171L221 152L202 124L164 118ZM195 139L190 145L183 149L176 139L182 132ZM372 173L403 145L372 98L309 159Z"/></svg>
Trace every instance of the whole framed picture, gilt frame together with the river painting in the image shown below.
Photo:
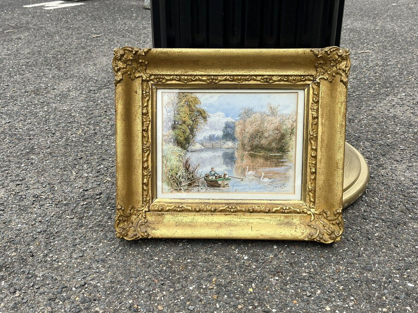
<svg viewBox="0 0 418 313"><path fill-rule="evenodd" d="M112 65L118 238L341 240L348 49L123 47Z"/></svg>

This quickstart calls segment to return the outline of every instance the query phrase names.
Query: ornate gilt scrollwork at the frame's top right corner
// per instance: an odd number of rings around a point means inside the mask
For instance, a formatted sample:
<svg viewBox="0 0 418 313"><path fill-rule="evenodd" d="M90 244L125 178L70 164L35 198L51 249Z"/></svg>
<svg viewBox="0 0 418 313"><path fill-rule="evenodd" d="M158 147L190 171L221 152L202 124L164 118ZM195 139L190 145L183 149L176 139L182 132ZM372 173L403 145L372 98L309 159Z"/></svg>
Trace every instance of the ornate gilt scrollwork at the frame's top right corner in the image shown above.
<svg viewBox="0 0 418 313"><path fill-rule="evenodd" d="M311 49L320 60L315 63L316 79L324 78L333 81L336 75L341 76L340 81L348 86L348 74L350 72L350 50L347 48L327 47L323 49Z"/></svg>

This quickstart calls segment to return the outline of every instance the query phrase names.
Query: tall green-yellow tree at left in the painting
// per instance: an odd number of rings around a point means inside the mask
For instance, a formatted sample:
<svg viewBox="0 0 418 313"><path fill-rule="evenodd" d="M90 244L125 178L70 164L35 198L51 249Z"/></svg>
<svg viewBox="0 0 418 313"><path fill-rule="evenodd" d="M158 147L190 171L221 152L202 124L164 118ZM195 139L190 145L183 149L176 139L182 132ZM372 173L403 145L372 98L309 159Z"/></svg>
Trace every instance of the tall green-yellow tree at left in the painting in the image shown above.
<svg viewBox="0 0 418 313"><path fill-rule="evenodd" d="M193 93L178 93L173 116L173 132L176 144L186 150L194 141L196 133L206 124L209 114L201 107Z"/></svg>

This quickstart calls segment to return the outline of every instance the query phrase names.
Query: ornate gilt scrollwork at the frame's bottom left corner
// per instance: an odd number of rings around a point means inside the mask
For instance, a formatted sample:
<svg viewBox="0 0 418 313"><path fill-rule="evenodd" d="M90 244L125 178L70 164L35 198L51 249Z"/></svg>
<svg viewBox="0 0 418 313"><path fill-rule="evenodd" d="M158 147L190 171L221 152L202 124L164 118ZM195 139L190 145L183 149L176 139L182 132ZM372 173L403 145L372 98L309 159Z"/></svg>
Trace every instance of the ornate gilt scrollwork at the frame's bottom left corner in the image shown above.
<svg viewBox="0 0 418 313"><path fill-rule="evenodd" d="M126 240L150 238L151 236L148 230L141 229L141 226L146 227L148 222L145 217L145 212L148 212L148 210L148 206L138 208L131 205L129 208L125 208L117 203L115 220L116 237L125 238Z"/></svg>

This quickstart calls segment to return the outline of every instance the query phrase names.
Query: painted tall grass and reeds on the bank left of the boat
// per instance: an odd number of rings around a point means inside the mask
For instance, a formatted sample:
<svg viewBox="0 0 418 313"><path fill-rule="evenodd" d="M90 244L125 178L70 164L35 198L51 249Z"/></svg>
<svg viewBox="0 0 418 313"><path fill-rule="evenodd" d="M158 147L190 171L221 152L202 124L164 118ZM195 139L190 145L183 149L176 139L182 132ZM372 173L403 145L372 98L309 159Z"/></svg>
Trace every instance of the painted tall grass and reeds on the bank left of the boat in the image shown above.
<svg viewBox="0 0 418 313"><path fill-rule="evenodd" d="M173 144L165 144L163 147L163 180L170 189L181 190L187 182L201 177L200 164L192 165L185 154L185 150ZM202 182L196 181L193 184L200 185Z"/></svg>

